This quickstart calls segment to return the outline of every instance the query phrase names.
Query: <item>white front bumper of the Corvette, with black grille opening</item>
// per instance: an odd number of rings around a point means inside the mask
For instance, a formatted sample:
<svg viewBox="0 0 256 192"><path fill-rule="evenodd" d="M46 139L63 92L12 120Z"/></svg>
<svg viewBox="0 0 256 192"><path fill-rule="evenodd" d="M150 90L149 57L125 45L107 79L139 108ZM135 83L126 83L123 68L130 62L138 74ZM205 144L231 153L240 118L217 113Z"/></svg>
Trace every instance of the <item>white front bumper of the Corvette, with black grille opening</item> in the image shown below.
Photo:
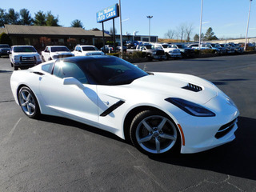
<svg viewBox="0 0 256 192"><path fill-rule="evenodd" d="M185 137L182 154L210 150L235 138L234 132L238 129L238 109L228 104L223 95L211 99L205 106L215 108L216 116L200 118L189 115L178 120Z"/></svg>

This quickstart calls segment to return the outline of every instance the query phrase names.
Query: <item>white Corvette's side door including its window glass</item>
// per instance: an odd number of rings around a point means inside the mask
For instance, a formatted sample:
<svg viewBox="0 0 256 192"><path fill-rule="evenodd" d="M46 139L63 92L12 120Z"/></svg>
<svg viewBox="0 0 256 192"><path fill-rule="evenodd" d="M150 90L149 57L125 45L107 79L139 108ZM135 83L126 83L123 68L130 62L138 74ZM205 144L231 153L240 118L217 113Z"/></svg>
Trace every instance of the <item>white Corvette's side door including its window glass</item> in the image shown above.
<svg viewBox="0 0 256 192"><path fill-rule="evenodd" d="M70 77L86 86L64 85L65 78ZM97 86L86 82L86 75L75 63L57 61L53 74L42 75L39 87L45 105L54 113L98 126Z"/></svg>

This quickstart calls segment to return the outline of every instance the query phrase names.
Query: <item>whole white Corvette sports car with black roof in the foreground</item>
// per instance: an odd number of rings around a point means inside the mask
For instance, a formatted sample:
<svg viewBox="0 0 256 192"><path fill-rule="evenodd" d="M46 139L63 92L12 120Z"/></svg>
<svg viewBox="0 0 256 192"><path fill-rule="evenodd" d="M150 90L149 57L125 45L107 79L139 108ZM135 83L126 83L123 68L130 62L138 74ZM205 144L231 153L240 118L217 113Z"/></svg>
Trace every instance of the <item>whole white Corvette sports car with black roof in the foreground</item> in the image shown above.
<svg viewBox="0 0 256 192"><path fill-rule="evenodd" d="M14 71L15 101L30 118L70 118L129 138L145 154L196 153L234 140L238 108L187 74L146 73L110 56L72 57Z"/></svg>

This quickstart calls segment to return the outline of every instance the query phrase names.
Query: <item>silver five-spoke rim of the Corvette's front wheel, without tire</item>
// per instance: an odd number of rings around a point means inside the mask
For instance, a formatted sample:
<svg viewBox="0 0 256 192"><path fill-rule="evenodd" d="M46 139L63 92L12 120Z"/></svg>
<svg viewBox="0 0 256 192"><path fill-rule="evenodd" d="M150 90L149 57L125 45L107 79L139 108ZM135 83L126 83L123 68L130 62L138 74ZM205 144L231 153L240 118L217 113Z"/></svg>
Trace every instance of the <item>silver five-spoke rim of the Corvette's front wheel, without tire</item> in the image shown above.
<svg viewBox="0 0 256 192"><path fill-rule="evenodd" d="M170 150L177 141L177 135L174 123L161 115L142 119L136 129L138 145L152 154L162 154Z"/></svg>

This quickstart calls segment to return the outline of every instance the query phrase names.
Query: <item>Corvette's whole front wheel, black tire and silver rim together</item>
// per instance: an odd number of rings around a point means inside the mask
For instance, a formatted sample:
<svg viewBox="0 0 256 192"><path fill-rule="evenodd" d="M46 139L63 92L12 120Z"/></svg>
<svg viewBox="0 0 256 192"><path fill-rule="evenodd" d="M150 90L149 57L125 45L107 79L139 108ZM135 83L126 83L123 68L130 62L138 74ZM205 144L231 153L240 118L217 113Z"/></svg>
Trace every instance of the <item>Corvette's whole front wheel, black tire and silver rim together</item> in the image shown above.
<svg viewBox="0 0 256 192"><path fill-rule="evenodd" d="M143 154L162 155L178 152L181 138L174 122L158 111L144 110L130 125L130 140Z"/></svg>

